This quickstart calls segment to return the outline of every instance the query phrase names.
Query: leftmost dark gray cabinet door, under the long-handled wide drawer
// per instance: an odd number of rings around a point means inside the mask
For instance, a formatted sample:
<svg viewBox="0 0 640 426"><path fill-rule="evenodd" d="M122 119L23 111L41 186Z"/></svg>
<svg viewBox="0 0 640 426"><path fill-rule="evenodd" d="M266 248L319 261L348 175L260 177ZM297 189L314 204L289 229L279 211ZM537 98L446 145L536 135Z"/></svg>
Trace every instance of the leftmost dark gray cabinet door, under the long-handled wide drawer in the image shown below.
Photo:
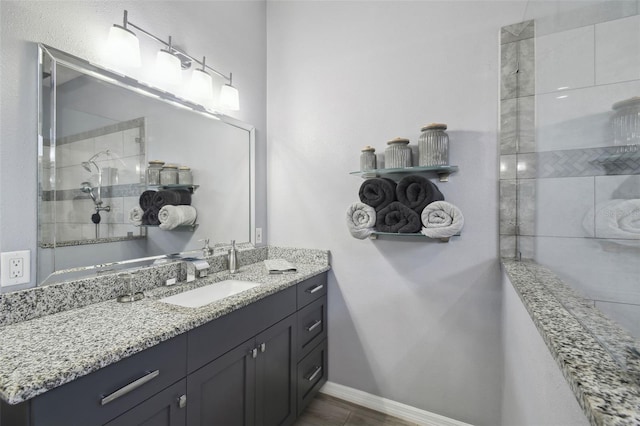
<svg viewBox="0 0 640 426"><path fill-rule="evenodd" d="M105 426L186 426L186 391L182 379Z"/></svg>

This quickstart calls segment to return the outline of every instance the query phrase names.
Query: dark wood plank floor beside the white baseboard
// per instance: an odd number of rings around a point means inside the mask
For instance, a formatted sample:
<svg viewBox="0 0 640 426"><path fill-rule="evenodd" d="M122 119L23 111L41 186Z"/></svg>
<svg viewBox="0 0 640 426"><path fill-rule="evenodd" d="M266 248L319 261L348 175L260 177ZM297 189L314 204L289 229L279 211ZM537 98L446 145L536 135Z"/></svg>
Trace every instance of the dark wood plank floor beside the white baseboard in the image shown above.
<svg viewBox="0 0 640 426"><path fill-rule="evenodd" d="M386 414L319 393L294 426L416 426Z"/></svg>

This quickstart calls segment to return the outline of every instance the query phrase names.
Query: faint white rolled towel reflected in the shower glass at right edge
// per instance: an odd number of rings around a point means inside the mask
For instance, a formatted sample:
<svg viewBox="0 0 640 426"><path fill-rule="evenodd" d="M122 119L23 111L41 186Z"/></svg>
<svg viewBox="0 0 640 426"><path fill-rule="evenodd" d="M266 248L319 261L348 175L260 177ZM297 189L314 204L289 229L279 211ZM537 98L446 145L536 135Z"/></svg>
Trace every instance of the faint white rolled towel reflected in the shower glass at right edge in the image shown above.
<svg viewBox="0 0 640 426"><path fill-rule="evenodd" d="M589 235L596 238L638 240L640 199L617 199L597 204L586 214L582 225Z"/></svg>

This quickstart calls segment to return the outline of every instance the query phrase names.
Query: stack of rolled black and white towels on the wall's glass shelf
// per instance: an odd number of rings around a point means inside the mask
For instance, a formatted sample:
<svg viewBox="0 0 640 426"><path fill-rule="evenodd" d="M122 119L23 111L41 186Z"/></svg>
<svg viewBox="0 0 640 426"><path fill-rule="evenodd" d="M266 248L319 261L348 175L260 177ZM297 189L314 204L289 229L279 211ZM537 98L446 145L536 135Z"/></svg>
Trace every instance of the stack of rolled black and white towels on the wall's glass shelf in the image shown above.
<svg viewBox="0 0 640 426"><path fill-rule="evenodd" d="M376 231L448 238L464 224L460 209L444 201L439 188L420 175L408 175L397 184L391 179L368 179L359 196L361 202L347 210L347 227L355 238Z"/></svg>

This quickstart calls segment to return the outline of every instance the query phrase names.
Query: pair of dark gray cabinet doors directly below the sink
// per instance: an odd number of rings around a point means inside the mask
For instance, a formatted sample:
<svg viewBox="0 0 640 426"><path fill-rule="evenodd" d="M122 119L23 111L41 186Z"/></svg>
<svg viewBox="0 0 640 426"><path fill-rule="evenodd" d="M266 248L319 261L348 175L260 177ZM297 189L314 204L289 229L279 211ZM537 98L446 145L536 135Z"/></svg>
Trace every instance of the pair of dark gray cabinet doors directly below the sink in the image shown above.
<svg viewBox="0 0 640 426"><path fill-rule="evenodd" d="M187 422L287 425L296 418L295 315L187 377Z"/></svg>

